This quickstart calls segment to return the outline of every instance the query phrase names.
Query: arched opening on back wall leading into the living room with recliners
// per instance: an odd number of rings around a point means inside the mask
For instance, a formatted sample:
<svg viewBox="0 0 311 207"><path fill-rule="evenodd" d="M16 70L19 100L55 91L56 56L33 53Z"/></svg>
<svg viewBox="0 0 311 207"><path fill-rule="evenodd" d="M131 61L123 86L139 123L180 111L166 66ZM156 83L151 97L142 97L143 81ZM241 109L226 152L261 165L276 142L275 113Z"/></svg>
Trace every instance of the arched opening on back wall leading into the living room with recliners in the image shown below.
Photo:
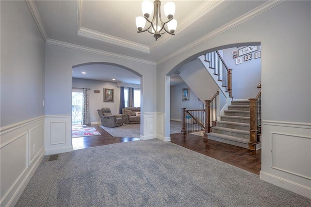
<svg viewBox="0 0 311 207"><path fill-rule="evenodd" d="M139 139L142 122L138 113L135 117L136 122L131 124L123 117L125 107L139 110L140 115L140 102L142 103L143 99L140 93L142 78L143 76L137 71L114 63L91 62L72 66L73 149ZM82 99L84 88L88 92L88 100ZM80 93L77 93L79 91ZM87 110L83 111L83 108L88 108L89 114ZM107 113L113 115L110 118L105 117L109 118L106 120L108 122L104 122L100 117L98 110L102 111L102 108L108 108L110 111ZM87 116L89 116L88 121L84 119ZM110 123L112 119L115 119L115 122Z"/></svg>

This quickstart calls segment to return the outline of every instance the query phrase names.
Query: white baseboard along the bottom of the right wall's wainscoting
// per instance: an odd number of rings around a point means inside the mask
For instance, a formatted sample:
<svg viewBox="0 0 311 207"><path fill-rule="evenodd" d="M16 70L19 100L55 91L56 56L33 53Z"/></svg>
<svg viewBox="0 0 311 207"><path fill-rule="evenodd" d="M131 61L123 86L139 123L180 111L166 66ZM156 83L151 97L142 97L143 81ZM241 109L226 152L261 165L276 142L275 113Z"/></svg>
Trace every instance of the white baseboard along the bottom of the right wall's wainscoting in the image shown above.
<svg viewBox="0 0 311 207"><path fill-rule="evenodd" d="M276 185L280 188L290 190L294 193L297 193L299 195L302 195L302 196L305 196L311 199L311 188L307 186L303 186L303 185L294 183L290 180L286 180L284 178L277 177L275 175L272 175L270 173L265 173L262 171L260 171L259 176L260 176L260 179L263 181L272 183L273 185Z"/></svg>

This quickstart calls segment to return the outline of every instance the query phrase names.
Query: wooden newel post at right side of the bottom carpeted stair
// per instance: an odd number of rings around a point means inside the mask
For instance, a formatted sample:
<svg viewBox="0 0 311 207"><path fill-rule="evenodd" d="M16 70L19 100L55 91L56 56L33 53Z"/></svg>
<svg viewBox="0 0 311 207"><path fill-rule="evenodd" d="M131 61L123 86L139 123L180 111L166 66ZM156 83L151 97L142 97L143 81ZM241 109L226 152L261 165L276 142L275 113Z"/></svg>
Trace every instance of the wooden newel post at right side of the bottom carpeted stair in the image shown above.
<svg viewBox="0 0 311 207"><path fill-rule="evenodd" d="M249 100L249 142L248 148L256 150L257 143L257 102L255 98Z"/></svg>

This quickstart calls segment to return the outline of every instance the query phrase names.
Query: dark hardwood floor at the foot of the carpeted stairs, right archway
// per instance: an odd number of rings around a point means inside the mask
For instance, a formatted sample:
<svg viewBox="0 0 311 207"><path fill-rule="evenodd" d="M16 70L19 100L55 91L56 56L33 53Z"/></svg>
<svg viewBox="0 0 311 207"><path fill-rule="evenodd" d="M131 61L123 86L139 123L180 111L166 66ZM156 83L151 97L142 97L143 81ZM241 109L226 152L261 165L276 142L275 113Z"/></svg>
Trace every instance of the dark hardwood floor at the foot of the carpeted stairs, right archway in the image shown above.
<svg viewBox="0 0 311 207"><path fill-rule="evenodd" d="M171 142L195 152L213 157L230 165L259 175L261 170L261 150L254 151L242 147L208 140L198 135L171 134Z"/></svg>

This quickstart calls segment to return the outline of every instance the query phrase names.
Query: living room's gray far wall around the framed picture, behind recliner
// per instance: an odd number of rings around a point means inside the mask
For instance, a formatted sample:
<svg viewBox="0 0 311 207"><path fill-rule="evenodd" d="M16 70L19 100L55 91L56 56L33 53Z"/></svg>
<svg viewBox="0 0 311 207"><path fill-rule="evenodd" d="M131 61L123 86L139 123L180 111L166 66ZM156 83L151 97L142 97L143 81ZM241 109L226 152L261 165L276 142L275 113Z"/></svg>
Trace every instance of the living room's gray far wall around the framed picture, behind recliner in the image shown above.
<svg viewBox="0 0 311 207"><path fill-rule="evenodd" d="M97 109L109 107L112 114L118 114L119 108L119 89L117 83L108 81L95 81L81 78L72 78L72 87L90 88L89 90L89 111L91 122L101 121L99 119ZM115 89L115 102L104 102L103 88ZM94 93L95 89L99 89L99 93Z"/></svg>

